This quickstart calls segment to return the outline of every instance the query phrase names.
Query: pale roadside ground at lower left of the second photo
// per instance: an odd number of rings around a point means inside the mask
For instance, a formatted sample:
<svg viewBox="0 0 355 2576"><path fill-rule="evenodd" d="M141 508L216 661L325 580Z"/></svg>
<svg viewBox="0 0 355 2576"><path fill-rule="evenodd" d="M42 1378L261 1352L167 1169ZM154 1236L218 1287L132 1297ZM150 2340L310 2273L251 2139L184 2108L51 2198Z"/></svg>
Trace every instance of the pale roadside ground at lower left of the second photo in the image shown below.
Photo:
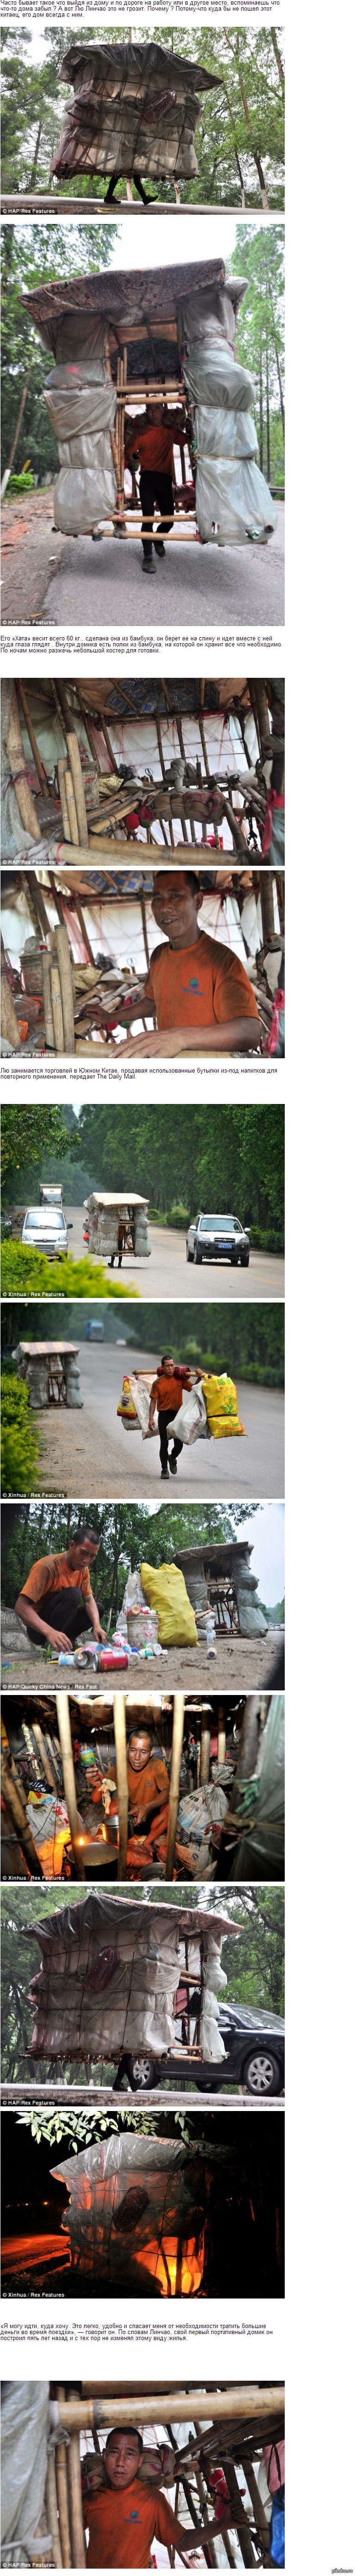
<svg viewBox="0 0 355 2576"><path fill-rule="evenodd" d="M51 520L54 492L28 492L26 500L3 502L3 626L26 626L28 618L41 616L67 546L67 536L51 533Z"/></svg>

